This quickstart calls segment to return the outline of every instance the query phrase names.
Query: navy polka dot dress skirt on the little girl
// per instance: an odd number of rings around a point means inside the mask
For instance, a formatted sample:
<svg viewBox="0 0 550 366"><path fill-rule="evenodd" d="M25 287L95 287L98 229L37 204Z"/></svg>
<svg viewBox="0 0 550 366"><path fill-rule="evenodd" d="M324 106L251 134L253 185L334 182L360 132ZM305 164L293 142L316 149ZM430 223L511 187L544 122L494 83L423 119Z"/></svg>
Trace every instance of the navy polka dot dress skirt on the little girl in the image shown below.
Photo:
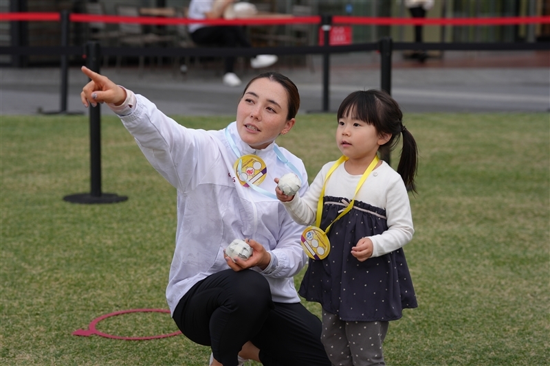
<svg viewBox="0 0 550 366"><path fill-rule="evenodd" d="M325 196L325 202L342 198ZM341 205L323 205L321 229L338 216ZM331 251L324 260L309 260L298 293L307 301L346 321L391 321L417 299L403 248L360 262L351 255L360 238L388 229L386 212L355 201L354 208L334 222L329 231Z"/></svg>

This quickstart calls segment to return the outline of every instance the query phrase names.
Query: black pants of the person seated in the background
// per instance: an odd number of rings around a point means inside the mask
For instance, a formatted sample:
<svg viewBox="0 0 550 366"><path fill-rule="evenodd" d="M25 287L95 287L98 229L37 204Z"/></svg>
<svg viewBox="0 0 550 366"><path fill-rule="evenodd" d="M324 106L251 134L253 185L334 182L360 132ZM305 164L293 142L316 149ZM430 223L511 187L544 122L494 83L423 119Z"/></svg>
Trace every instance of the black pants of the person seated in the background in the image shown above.
<svg viewBox="0 0 550 366"><path fill-rule="evenodd" d="M242 27L220 25L201 27L191 33L191 39L197 45L217 47L252 47ZM225 73L233 72L235 57L225 57Z"/></svg>

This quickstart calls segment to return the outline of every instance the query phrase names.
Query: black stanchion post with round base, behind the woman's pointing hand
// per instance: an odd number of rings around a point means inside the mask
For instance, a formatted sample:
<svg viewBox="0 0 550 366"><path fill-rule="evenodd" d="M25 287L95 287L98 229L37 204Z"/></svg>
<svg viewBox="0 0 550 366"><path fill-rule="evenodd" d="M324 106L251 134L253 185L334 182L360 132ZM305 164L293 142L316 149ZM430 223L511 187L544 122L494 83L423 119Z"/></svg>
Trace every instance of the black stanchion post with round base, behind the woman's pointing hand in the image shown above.
<svg viewBox="0 0 550 366"><path fill-rule="evenodd" d="M88 42L86 45L87 67L99 73L101 50L99 43ZM63 199L72 203L116 203L126 201L128 197L113 193L101 192L101 104L89 106L90 117L90 193L72 194Z"/></svg>

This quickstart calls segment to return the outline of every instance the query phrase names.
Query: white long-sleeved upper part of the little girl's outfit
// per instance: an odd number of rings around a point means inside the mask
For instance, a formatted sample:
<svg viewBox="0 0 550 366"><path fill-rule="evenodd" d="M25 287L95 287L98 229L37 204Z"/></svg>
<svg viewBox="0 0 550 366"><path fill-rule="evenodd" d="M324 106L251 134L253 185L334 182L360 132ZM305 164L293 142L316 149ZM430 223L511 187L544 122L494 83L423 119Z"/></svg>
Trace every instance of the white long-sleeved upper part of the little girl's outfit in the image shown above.
<svg viewBox="0 0 550 366"><path fill-rule="evenodd" d="M297 194L292 201L284 203L285 208L296 222L302 225L315 225L317 203L322 185L333 164L334 161L331 161L322 167L305 195L300 197ZM344 197L349 203L360 179L360 175L349 174L342 163L329 177L325 187L325 196ZM382 165L369 174L355 196L355 201L386 210L388 230L380 235L369 237L373 242L371 257L391 253L410 242L415 230L412 227L407 190L401 176L385 161L382 161ZM347 203L342 204L342 209L347 206Z"/></svg>

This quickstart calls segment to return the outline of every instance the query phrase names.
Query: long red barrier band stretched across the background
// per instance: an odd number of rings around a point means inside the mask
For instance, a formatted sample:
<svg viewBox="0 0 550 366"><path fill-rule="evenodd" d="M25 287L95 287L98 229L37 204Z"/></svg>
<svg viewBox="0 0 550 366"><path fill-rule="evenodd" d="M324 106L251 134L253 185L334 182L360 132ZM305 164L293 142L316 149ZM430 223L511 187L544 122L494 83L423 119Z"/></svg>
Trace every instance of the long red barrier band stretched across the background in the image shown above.
<svg viewBox="0 0 550 366"><path fill-rule="evenodd" d="M0 12L0 21L60 21L59 13L54 12ZM70 15L70 20L78 23L138 23L147 25L186 25L201 23L207 25L277 25L277 24L319 24L320 16L294 17L257 17L248 19L211 19L198 20L188 18L159 18L155 16L118 16L77 14ZM509 16L492 18L384 18L372 16L339 16L332 17L333 24L347 25L518 25L550 23L550 16Z"/></svg>

